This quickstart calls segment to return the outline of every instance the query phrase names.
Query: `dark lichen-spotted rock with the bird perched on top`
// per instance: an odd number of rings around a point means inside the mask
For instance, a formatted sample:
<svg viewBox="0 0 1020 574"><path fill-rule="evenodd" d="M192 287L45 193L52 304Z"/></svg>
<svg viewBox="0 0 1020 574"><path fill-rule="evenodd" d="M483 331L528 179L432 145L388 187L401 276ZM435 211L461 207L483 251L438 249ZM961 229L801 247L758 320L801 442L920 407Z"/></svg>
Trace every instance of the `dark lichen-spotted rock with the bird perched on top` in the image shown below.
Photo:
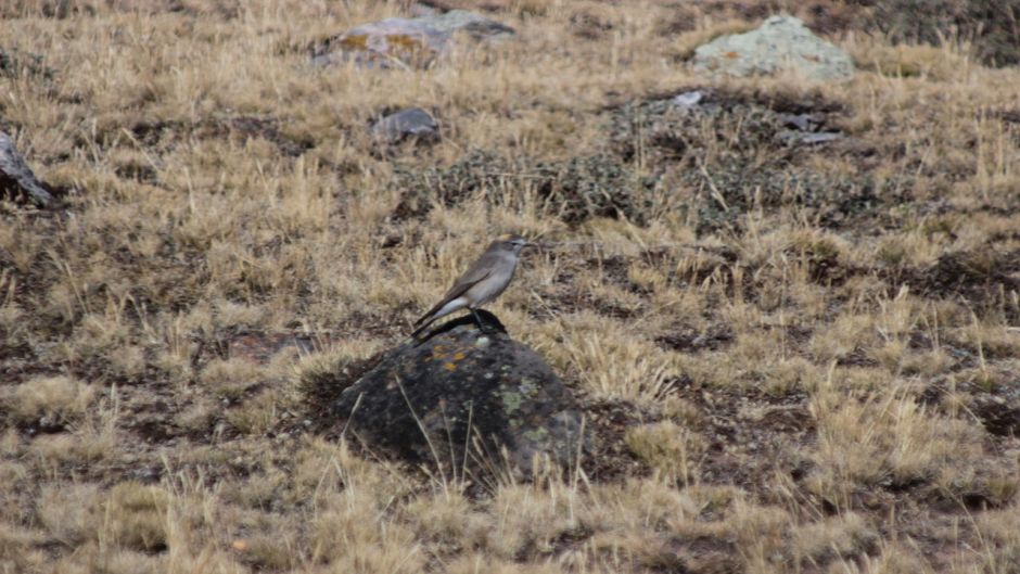
<svg viewBox="0 0 1020 574"><path fill-rule="evenodd" d="M563 382L490 314L445 323L386 353L333 405L373 450L460 469L533 470L536 457L575 460L581 413ZM503 458L505 449L506 458Z"/></svg>

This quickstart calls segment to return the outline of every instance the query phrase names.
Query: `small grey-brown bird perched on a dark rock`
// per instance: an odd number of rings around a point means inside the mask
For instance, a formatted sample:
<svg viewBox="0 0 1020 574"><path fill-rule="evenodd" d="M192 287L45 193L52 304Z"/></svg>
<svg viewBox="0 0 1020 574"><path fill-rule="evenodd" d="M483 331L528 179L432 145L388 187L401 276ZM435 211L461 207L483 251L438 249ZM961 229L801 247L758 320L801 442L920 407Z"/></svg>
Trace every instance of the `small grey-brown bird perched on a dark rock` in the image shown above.
<svg viewBox="0 0 1020 574"><path fill-rule="evenodd" d="M496 238L496 241L489 243L485 253L471 264L468 272L454 282L454 286L446 292L446 295L443 295L439 303L436 303L429 309L429 312L415 322L416 329L411 336L417 337L435 320L463 308L471 310L479 329L484 329L475 309L498 297L507 289L510 280L513 279L518 258L524 247L537 247L537 245L515 234Z"/></svg>

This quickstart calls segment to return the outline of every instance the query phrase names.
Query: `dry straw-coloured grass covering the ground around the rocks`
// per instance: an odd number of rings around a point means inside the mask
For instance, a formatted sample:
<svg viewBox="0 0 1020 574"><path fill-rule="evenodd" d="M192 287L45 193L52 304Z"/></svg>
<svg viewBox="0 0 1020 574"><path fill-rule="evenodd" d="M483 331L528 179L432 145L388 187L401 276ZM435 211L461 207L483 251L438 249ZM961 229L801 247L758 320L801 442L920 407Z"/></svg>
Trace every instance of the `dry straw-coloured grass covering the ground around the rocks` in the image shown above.
<svg viewBox="0 0 1020 574"><path fill-rule="evenodd" d="M853 80L662 128L617 105L705 88L683 61L764 9L506 2L517 40L366 73L306 48L401 2L62 4L0 9L54 71L0 76L0 126L73 190L0 206L0 572L1016 572L1016 68L843 30ZM405 105L443 141L380 153ZM754 131L796 105L852 142ZM564 221L528 173L395 215L398 168L472 150L655 183L642 220ZM492 310L632 413L633 464L479 485L322 436L317 390L506 231L548 248Z"/></svg>

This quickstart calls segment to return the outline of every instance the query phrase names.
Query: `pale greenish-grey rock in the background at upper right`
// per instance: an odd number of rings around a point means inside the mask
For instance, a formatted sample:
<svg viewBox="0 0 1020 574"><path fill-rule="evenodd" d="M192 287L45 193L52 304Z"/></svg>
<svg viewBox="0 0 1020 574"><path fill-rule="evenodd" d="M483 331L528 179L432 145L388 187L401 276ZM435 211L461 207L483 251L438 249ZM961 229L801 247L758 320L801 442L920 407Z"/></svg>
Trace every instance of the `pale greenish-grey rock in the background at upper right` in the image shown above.
<svg viewBox="0 0 1020 574"><path fill-rule="evenodd" d="M852 76L854 64L800 20L772 16L755 30L721 36L699 47L694 69L741 77L792 71L808 79L831 81Z"/></svg>

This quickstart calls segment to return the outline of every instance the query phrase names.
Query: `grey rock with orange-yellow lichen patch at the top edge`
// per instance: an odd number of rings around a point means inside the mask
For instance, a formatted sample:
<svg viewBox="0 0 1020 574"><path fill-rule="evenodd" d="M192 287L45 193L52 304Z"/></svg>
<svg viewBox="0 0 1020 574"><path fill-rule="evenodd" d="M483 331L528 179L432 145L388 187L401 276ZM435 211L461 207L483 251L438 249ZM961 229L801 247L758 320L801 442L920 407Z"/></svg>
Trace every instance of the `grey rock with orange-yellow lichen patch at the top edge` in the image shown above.
<svg viewBox="0 0 1020 574"><path fill-rule="evenodd" d="M449 52L463 31L475 40L506 38L513 28L467 10L393 17L364 24L330 38L311 59L317 66L353 60L362 67L424 67Z"/></svg>

